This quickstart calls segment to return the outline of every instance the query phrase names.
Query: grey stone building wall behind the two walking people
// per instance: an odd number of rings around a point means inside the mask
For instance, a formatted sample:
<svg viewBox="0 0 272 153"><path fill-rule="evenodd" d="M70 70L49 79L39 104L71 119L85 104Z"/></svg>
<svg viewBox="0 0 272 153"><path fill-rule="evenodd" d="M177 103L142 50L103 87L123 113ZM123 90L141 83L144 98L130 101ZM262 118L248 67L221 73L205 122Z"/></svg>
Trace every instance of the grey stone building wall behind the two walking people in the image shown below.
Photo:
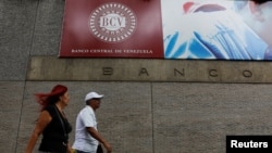
<svg viewBox="0 0 272 153"><path fill-rule="evenodd" d="M39 113L33 94L57 84L69 87L65 114L73 128L85 94L96 90L106 95L97 111L99 131L115 153L222 153L227 135L271 133L269 62L220 62L231 68L221 68L223 77L214 79L201 72L212 61L173 61L177 66L188 62L186 69L198 65L189 77L175 80L165 75L172 72L160 69L173 65L163 60L144 60L146 65L138 66L143 60L58 59L64 2L0 1L0 152L24 151ZM121 69L116 76L101 75L109 65ZM159 68L141 78L138 71L145 66ZM249 80L233 75L248 68L259 71Z"/></svg>

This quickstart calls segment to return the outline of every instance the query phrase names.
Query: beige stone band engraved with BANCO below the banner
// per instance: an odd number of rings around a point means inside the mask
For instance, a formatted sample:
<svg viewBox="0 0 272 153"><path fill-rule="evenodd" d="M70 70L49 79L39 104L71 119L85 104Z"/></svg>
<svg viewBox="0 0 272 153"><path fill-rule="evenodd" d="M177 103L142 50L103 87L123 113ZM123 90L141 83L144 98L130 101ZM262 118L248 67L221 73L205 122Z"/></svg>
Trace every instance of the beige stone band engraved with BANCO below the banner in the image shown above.
<svg viewBox="0 0 272 153"><path fill-rule="evenodd" d="M27 80L272 82L272 63L32 56Z"/></svg>

